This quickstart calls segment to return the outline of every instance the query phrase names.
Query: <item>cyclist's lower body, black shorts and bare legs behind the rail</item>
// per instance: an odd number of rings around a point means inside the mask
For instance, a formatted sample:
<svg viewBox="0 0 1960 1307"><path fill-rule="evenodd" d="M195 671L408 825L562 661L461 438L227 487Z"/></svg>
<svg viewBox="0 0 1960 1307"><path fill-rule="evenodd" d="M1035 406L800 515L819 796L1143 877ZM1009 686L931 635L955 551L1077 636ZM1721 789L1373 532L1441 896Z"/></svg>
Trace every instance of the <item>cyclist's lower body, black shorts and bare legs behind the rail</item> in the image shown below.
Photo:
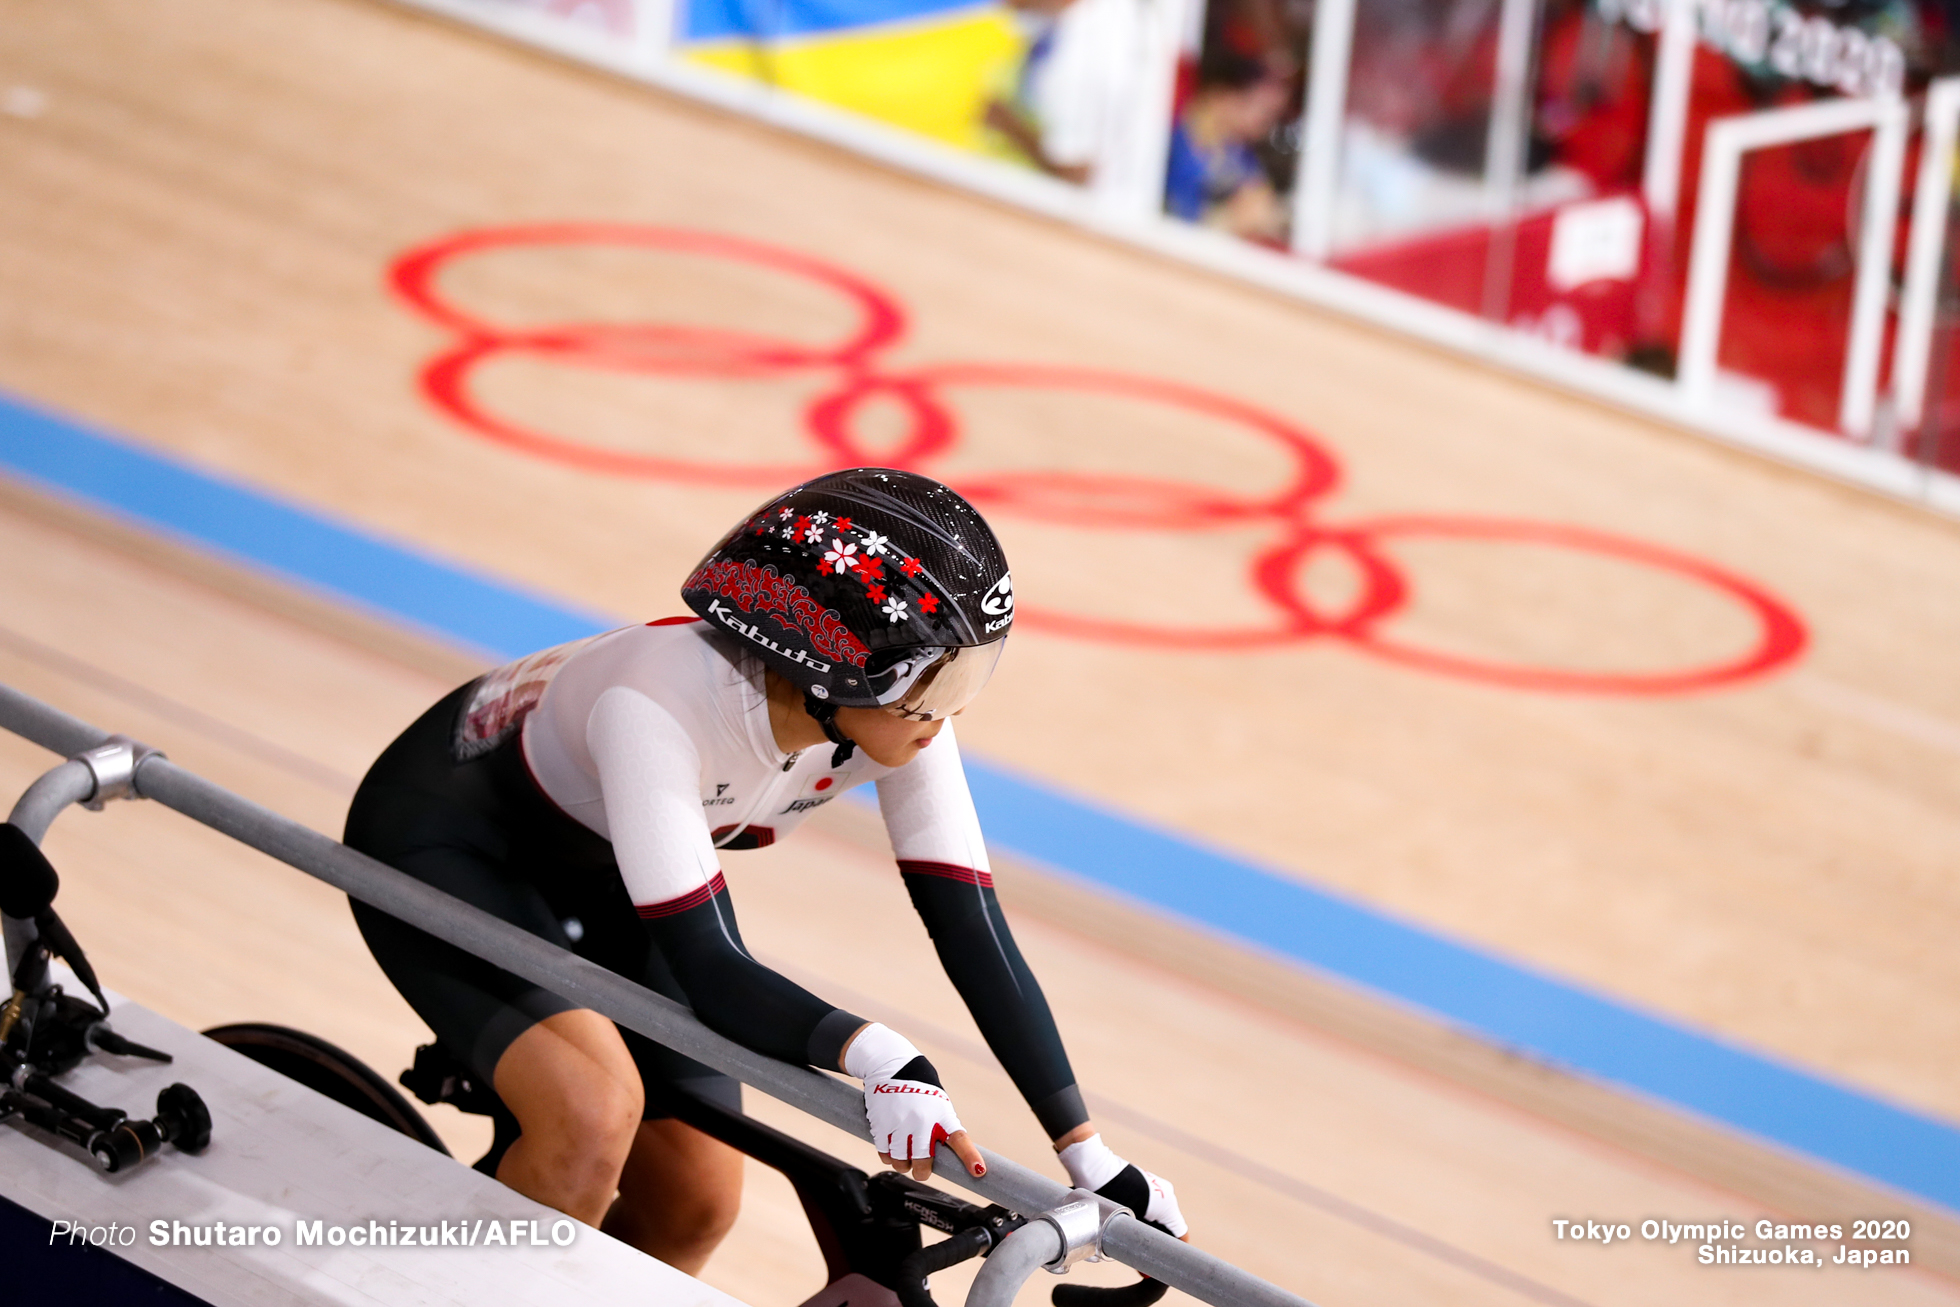
<svg viewBox="0 0 1960 1307"><path fill-rule="evenodd" d="M570 944L563 919L578 917L578 952L686 1001L651 956L612 847L539 799L517 741L455 760L466 692L374 762L347 843L559 946ZM621 1238L670 1264L708 1260L741 1205L741 1156L649 1105L661 1093L643 1086L664 1093L680 1080L739 1109L733 1080L370 907L355 903L355 919L408 1003L517 1117L523 1137L498 1180L590 1225L617 1221Z"/></svg>

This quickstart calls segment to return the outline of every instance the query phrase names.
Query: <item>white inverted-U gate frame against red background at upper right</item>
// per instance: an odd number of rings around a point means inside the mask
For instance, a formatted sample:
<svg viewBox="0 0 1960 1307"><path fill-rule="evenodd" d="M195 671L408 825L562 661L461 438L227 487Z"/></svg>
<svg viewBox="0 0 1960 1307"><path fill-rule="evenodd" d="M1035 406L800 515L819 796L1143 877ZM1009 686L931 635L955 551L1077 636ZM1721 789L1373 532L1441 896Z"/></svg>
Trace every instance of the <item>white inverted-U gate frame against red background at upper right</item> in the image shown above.
<svg viewBox="0 0 1960 1307"><path fill-rule="evenodd" d="M1825 100L1709 123L1695 192L1693 253L1688 263L1688 308L1682 321L1678 386L1691 404L1715 404L1715 357L1721 347L1723 298L1735 243L1735 198L1742 155L1846 131L1872 131L1866 159L1864 216L1858 233L1858 280L1852 290L1850 347L1838 425L1860 441L1872 437L1878 410L1878 361L1886 341L1886 284L1891 274L1891 229L1905 167L1903 100Z"/></svg>

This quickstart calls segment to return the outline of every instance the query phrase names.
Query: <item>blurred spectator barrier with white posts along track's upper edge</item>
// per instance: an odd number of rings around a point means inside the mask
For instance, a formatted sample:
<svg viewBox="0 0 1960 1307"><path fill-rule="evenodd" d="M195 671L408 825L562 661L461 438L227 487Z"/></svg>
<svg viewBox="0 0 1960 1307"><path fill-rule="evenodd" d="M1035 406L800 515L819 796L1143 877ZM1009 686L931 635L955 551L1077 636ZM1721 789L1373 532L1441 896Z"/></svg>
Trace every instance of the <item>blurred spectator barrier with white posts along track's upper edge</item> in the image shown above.
<svg viewBox="0 0 1960 1307"><path fill-rule="evenodd" d="M1960 508L1948 0L402 2Z"/></svg>

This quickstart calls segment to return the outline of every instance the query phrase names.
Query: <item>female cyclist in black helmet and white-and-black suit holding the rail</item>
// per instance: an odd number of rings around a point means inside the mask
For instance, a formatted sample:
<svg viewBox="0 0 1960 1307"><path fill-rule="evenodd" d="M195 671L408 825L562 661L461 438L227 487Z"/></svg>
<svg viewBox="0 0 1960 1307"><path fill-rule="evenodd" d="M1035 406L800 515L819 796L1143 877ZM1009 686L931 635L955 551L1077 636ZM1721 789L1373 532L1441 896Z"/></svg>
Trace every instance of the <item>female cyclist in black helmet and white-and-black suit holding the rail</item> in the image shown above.
<svg viewBox="0 0 1960 1307"><path fill-rule="evenodd" d="M682 598L692 617L547 649L441 700L361 782L347 843L749 1048L862 1080L890 1166L923 1180L947 1140L978 1176L933 1064L751 958L721 880L723 848L770 845L876 782L947 976L1070 1182L1182 1236L1170 1186L1090 1125L994 896L949 729L1013 623L1007 560L980 513L909 472L833 472L729 531ZM515 1115L498 1180L698 1272L735 1221L741 1156L664 1103L739 1107L739 1084L372 907L355 903L355 919Z"/></svg>

